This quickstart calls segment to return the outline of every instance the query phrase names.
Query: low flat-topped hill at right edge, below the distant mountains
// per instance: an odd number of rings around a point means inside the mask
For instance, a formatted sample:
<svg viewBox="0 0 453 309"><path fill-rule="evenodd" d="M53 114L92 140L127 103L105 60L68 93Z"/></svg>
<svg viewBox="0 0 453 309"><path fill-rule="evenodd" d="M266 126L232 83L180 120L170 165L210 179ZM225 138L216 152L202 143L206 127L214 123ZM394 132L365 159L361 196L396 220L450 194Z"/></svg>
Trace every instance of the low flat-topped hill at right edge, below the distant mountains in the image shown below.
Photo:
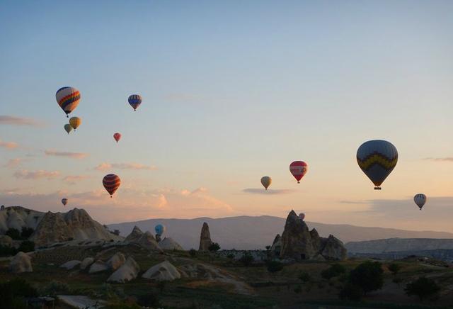
<svg viewBox="0 0 453 309"><path fill-rule="evenodd" d="M385 253L453 249L453 239L389 238L384 240L368 240L364 242L348 242L346 248L350 253Z"/></svg>

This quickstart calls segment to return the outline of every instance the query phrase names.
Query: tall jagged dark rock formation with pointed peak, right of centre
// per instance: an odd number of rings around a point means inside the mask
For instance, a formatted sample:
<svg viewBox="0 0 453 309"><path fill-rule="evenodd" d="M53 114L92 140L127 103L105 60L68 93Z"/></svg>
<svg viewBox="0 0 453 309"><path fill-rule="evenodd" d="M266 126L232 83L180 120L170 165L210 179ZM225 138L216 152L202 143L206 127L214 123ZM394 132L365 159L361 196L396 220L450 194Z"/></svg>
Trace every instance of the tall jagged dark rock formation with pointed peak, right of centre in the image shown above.
<svg viewBox="0 0 453 309"><path fill-rule="evenodd" d="M285 230L283 231L280 258L295 259L329 259L343 260L346 258L346 249L343 242L330 235L328 238L319 237L318 232L300 220L294 210L289 213Z"/></svg>

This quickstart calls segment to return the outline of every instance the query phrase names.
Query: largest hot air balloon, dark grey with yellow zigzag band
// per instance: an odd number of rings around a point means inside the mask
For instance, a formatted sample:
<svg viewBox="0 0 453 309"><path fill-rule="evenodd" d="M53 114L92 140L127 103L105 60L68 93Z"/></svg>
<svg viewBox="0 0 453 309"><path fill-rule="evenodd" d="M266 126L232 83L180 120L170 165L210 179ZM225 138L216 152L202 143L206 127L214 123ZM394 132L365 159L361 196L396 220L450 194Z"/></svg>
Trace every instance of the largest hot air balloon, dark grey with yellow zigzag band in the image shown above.
<svg viewBox="0 0 453 309"><path fill-rule="evenodd" d="M398 151L386 140L369 140L357 150L357 163L360 169L374 184L374 190L380 190L381 184L396 167Z"/></svg>

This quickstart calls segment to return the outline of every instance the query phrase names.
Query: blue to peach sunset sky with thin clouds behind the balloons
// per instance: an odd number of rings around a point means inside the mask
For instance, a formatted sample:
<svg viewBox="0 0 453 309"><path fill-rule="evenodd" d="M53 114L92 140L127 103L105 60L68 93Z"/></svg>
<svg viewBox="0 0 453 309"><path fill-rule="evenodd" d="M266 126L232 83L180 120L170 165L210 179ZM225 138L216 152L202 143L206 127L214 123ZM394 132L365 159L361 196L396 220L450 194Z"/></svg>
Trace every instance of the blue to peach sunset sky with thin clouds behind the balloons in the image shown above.
<svg viewBox="0 0 453 309"><path fill-rule="evenodd" d="M1 1L0 204L453 232L452 15L452 1ZM81 91L70 135L62 86ZM399 154L382 191L355 159L373 139Z"/></svg>

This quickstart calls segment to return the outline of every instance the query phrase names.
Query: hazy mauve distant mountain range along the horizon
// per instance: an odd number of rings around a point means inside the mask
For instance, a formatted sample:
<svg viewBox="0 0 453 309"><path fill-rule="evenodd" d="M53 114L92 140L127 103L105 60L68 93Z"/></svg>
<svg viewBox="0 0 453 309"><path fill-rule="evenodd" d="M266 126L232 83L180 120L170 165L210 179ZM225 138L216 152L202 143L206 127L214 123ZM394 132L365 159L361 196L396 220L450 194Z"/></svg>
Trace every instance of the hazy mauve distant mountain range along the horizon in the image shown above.
<svg viewBox="0 0 453 309"><path fill-rule="evenodd" d="M195 218L195 219L149 219L130 223L108 225L110 230L120 230L127 236L134 225L141 230L154 233L154 226L161 223L167 227L166 236L172 237L184 249L198 249L200 231L203 222L210 226L212 241L218 242L222 249L264 249L272 245L275 235L282 234L285 218L262 215L258 217L239 216L229 218ZM306 222L318 230L319 235L336 236L343 242L379 240L384 238L452 238L453 233L434 231L397 230L383 227L360 227L354 225L336 225Z"/></svg>

